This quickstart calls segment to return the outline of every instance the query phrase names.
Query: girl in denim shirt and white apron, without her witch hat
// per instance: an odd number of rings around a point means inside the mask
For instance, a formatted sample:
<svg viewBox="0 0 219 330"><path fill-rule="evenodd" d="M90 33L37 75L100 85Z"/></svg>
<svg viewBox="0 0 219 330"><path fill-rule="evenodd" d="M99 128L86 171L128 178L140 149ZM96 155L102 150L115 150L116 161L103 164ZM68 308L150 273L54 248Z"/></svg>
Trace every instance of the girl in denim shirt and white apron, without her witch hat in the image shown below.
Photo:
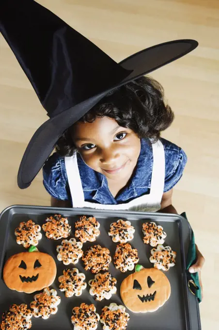
<svg viewBox="0 0 219 330"><path fill-rule="evenodd" d="M63 133L44 165L51 205L177 213L173 187L187 156L160 139L172 120L163 88L152 78L141 77L107 95ZM200 272L204 263L196 250L190 272Z"/></svg>

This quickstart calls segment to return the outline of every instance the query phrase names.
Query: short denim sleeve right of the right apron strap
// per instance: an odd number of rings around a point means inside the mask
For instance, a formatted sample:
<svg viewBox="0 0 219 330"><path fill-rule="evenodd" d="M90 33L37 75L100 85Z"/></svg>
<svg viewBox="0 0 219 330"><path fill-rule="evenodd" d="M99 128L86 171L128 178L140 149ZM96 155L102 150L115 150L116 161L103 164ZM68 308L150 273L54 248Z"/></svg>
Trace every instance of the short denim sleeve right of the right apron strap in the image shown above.
<svg viewBox="0 0 219 330"><path fill-rule="evenodd" d="M160 140L164 146L165 152L164 192L167 192L181 179L187 163L187 155L182 148L174 143L163 138Z"/></svg>

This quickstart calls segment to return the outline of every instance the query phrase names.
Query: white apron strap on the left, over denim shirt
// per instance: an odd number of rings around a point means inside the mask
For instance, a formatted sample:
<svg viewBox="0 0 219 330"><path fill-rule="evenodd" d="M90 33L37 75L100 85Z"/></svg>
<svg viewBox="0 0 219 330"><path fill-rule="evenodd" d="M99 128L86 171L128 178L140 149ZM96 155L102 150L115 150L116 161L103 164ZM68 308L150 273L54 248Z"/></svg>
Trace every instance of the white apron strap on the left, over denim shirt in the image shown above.
<svg viewBox="0 0 219 330"><path fill-rule="evenodd" d="M84 192L80 180L80 173L78 169L77 153L74 152L71 157L64 157L64 164L66 168L68 184L72 197L74 207L84 206Z"/></svg>

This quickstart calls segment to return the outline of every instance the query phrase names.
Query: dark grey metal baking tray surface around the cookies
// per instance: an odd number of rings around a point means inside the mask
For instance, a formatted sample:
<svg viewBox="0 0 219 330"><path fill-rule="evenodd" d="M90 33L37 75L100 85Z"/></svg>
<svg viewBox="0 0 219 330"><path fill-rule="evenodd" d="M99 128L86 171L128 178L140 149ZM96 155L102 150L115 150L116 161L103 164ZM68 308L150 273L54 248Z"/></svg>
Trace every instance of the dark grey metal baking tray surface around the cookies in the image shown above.
<svg viewBox="0 0 219 330"><path fill-rule="evenodd" d="M18 293L6 287L2 279L2 268L6 260L15 253L25 251L23 246L16 244L14 231L21 221L32 219L34 222L42 226L47 216L53 214L62 214L67 217L72 231L70 237L74 237L74 223L81 215L93 215L100 223L101 234L94 243L85 243L83 250L94 244L100 244L108 247L111 257L115 252L116 243L113 243L108 235L110 224L118 219L131 221L136 231L131 245L138 249L140 262L145 268L153 267L149 262L151 247L143 244L142 241L142 223L145 221L155 221L157 225L161 225L167 233L164 245L170 245L177 252L176 265L165 272L171 283L171 297L169 300L153 313L132 313L126 309L130 315L127 330L201 330L199 306L197 299L188 291L187 278L185 272L185 256L190 241L190 227L188 221L177 214L160 214L160 213L141 213L126 211L103 211L94 209L62 209L52 207L39 206L11 206L0 214L0 314L7 311L12 303L30 304L34 294ZM81 302L94 303L97 313L101 313L104 306L109 306L111 302L123 304L120 297L120 284L125 277L131 274L130 271L121 273L111 263L109 271L113 277L117 279L117 293L109 300L95 301L89 294L88 281L94 278L90 271L85 271L82 261L76 265L63 265L57 260L56 246L61 244L62 240L48 240L42 231L43 238L39 241L38 249L42 252L50 254L57 264L57 277L53 287L57 290L61 297L61 304L58 306L58 312L50 315L47 320L32 317L32 330L69 330L73 329L71 324L72 308L79 306ZM69 237L69 238L70 238ZM62 275L64 268L77 267L80 272L86 276L87 288L83 290L80 297L66 298L63 292L59 291L58 277ZM98 330L102 329L101 324Z"/></svg>

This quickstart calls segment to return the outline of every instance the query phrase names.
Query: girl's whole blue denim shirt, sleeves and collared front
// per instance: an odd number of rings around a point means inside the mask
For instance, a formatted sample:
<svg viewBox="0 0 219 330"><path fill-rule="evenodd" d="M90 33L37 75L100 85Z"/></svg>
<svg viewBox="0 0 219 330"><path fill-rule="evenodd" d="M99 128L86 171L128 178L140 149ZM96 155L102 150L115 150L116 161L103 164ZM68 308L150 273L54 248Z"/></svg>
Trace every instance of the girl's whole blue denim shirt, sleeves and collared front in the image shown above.
<svg viewBox="0 0 219 330"><path fill-rule="evenodd" d="M180 180L187 163L185 152L173 143L160 139L165 152L164 192ZM77 154L78 169L85 201L101 204L121 204L150 193L153 168L153 151L149 139L141 139L141 151L129 184L114 198L109 191L107 178L84 163ZM56 199L70 200L64 157L53 153L43 167L43 183L47 192Z"/></svg>

